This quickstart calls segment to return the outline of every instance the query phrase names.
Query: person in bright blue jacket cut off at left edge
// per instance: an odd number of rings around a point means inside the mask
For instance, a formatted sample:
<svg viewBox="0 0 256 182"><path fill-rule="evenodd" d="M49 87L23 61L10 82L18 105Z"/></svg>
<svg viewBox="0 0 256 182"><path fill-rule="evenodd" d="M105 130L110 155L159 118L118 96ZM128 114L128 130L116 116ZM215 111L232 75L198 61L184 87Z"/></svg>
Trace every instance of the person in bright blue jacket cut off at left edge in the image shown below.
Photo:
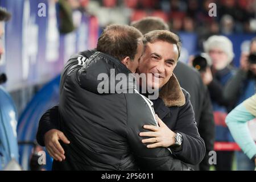
<svg viewBox="0 0 256 182"><path fill-rule="evenodd" d="M2 44L4 23L11 18L11 14L0 7L0 61L5 52ZM0 82L6 81L6 76L0 74ZM18 142L16 134L17 114L14 102L9 93L0 86L0 170L4 169L12 160L18 162Z"/></svg>

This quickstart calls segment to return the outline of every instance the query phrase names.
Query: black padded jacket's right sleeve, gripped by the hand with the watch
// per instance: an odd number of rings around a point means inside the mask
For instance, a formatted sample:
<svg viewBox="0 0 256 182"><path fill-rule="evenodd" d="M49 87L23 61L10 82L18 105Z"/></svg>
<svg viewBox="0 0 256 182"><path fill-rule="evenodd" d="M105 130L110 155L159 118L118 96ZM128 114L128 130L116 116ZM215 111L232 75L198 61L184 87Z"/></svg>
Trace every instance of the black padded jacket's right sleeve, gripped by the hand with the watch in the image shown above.
<svg viewBox="0 0 256 182"><path fill-rule="evenodd" d="M174 159L167 148L147 148L146 144L141 142L142 137L139 136L139 133L146 131L143 129L143 125L156 126L154 115L147 103L141 101L141 98L128 97L126 101L126 136L135 162L138 164L139 168L141 170L189 170L190 168L180 160Z"/></svg>

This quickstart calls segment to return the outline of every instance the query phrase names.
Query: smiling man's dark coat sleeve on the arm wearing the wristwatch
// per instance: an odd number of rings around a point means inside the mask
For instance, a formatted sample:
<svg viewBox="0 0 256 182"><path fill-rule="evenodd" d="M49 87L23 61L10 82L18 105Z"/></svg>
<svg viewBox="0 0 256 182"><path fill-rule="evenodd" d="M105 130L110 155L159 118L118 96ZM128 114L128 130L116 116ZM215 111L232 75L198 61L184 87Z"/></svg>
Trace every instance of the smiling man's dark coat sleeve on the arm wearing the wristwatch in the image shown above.
<svg viewBox="0 0 256 182"><path fill-rule="evenodd" d="M180 151L172 151L176 158L189 164L199 164L205 156L204 140L200 137L193 107L189 100L189 93L184 91L185 105L181 106L177 116L175 132L179 132L183 137L182 149Z"/></svg>

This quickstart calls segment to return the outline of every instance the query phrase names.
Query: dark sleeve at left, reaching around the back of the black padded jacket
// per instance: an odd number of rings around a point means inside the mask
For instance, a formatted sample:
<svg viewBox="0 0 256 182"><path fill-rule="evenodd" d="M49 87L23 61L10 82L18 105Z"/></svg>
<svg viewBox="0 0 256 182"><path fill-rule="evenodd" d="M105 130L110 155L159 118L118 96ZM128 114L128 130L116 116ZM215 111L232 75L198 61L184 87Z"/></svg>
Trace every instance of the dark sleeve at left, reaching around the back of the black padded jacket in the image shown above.
<svg viewBox="0 0 256 182"><path fill-rule="evenodd" d="M44 134L52 129L59 130L59 106L54 106L47 110L46 113L44 113L40 118L38 133L36 133L36 140L40 146L45 146Z"/></svg>

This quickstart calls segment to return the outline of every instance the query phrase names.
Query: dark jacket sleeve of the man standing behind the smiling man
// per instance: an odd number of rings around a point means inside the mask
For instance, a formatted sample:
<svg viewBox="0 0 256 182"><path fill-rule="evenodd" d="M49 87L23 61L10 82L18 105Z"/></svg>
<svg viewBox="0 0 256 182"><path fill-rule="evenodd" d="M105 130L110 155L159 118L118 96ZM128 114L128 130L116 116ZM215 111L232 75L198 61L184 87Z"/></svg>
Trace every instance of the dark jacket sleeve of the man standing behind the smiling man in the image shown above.
<svg viewBox="0 0 256 182"><path fill-rule="evenodd" d="M200 122L198 130L201 138L204 139L206 155L203 161L200 163L200 171L209 171L209 152L213 151L215 140L215 123L213 118L212 103L210 101L209 92L205 89L203 110L201 112Z"/></svg>

